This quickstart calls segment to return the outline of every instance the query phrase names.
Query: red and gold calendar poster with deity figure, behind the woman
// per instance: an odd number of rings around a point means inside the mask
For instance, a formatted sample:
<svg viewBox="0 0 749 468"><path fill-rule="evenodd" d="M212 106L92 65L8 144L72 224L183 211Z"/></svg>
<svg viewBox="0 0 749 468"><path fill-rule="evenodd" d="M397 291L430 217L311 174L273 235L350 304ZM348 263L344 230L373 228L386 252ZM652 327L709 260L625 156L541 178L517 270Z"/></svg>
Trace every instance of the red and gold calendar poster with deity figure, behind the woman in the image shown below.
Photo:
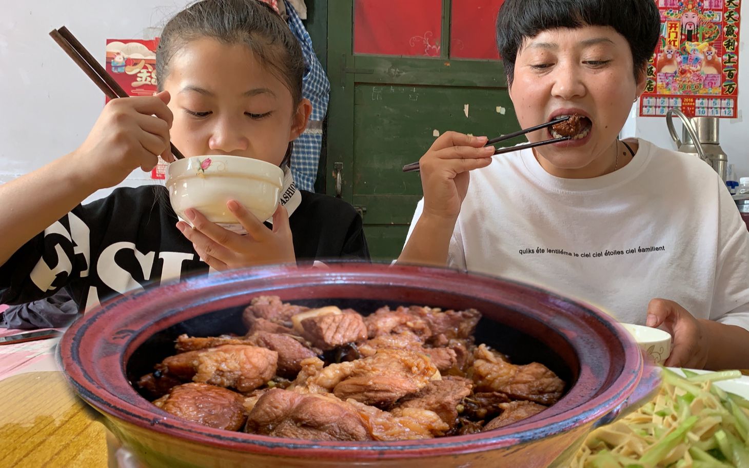
<svg viewBox="0 0 749 468"><path fill-rule="evenodd" d="M655 0L661 40L647 67L640 116L736 118L741 0Z"/></svg>

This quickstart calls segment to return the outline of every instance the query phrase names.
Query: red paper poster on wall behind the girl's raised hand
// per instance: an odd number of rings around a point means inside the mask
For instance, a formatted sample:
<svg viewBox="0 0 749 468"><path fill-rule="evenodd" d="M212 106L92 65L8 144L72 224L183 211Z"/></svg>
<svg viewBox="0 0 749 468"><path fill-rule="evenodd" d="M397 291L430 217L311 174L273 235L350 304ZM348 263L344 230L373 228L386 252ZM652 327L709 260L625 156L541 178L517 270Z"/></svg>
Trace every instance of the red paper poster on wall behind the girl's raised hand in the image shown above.
<svg viewBox="0 0 749 468"><path fill-rule="evenodd" d="M156 47L154 40L107 39L106 71L130 96L152 96L157 91ZM109 98L107 98L109 102ZM151 171L152 179L165 178L166 162Z"/></svg>

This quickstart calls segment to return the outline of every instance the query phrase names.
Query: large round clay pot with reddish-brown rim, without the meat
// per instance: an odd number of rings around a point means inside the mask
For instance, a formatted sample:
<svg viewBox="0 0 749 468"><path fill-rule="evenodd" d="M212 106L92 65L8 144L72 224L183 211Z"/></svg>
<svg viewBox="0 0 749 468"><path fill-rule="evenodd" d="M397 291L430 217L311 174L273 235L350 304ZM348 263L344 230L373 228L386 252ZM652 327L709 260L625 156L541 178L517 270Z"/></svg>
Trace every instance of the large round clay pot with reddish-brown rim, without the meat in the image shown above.
<svg viewBox="0 0 749 468"><path fill-rule="evenodd" d="M131 382L174 353L181 333L243 330L241 312L261 294L307 306L353 307L363 314L386 304L473 307L483 314L477 342L519 364L542 362L568 388L548 410L506 428L388 443L207 428L163 412L133 388ZM591 306L489 276L363 263L238 270L127 294L70 326L59 359L76 392L106 416L126 446L150 467L172 468L562 466L592 428L610 422L658 383L624 329Z"/></svg>

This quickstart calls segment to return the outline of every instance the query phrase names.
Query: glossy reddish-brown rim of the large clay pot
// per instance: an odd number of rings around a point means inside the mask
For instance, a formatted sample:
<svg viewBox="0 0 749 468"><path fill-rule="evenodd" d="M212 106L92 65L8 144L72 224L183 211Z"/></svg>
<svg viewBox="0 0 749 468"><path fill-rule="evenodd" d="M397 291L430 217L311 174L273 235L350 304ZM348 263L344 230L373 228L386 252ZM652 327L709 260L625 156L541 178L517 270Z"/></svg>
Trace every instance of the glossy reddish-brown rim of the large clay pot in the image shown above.
<svg viewBox="0 0 749 468"><path fill-rule="evenodd" d="M125 365L133 351L155 332L175 323L249 303L249 297L262 292L303 291L303 297L320 298L336 288L353 288L354 285L361 287L363 294L371 299L380 297L376 285L381 285L400 288L404 304L413 303L408 299L408 291L419 294L429 291L436 298L435 302L440 294L460 294L532 313L577 352L580 365L577 381L557 404L507 428L429 440L344 443L207 428L160 410L142 398L127 380ZM321 295L315 296L318 291ZM283 295L282 300L286 300ZM358 262L334 263L329 269L273 266L236 270L126 294L73 323L58 347L58 359L76 392L105 415L207 446L297 458L456 455L539 440L616 413L634 392L643 374L643 360L637 345L612 318L591 306L534 286L491 276L433 267L390 267Z"/></svg>

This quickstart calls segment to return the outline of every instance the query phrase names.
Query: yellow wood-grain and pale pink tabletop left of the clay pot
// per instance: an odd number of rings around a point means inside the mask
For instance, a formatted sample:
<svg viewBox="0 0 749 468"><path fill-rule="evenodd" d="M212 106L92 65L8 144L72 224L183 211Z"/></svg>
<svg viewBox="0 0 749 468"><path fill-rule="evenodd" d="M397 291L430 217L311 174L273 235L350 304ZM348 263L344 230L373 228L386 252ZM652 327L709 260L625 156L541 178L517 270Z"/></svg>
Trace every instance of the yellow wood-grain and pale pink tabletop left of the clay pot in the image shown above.
<svg viewBox="0 0 749 468"><path fill-rule="evenodd" d="M113 436L64 380L57 341L0 346L0 467L112 466Z"/></svg>

